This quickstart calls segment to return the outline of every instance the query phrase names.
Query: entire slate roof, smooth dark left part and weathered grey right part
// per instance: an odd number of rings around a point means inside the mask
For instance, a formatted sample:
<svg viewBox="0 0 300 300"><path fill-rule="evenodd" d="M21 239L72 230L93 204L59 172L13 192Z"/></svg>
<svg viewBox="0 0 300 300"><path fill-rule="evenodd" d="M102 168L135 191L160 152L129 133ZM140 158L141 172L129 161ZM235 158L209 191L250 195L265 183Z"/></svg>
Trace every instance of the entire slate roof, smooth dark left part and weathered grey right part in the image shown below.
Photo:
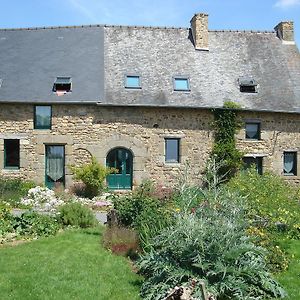
<svg viewBox="0 0 300 300"><path fill-rule="evenodd" d="M0 102L211 108L230 100L300 112L299 51L275 32L209 31L209 51L197 51L188 28L0 30L0 53ZM142 89L126 89L126 74L140 75ZM189 77L190 92L173 91L177 75ZM72 93L52 92L56 76L72 77ZM257 94L240 92L242 77L258 83Z"/></svg>

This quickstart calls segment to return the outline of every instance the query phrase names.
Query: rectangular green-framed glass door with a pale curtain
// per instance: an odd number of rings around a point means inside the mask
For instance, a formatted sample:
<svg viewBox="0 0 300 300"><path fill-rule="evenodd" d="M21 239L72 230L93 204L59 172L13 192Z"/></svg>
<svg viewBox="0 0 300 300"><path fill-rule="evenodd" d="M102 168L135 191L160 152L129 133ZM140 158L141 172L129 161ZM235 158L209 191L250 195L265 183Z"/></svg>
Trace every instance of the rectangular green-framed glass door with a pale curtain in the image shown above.
<svg viewBox="0 0 300 300"><path fill-rule="evenodd" d="M65 185L65 147L46 146L45 185L52 189Z"/></svg>

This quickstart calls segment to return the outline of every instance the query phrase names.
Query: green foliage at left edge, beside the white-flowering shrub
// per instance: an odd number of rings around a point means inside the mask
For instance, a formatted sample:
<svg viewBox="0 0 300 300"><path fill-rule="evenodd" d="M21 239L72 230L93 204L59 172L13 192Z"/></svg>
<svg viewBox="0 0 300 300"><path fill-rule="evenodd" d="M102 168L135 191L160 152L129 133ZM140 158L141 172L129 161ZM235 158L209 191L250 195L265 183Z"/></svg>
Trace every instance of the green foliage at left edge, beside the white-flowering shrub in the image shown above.
<svg viewBox="0 0 300 300"><path fill-rule="evenodd" d="M32 181L0 177L0 202L4 201L13 207L20 207L20 199L33 187L35 183Z"/></svg>

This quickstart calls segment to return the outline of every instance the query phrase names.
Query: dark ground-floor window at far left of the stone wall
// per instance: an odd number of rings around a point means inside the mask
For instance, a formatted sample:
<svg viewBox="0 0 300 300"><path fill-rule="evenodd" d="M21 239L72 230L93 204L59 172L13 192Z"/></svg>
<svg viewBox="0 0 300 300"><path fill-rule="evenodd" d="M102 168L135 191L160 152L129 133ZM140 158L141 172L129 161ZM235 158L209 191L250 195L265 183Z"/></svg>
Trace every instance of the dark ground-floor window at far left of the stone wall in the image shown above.
<svg viewBox="0 0 300 300"><path fill-rule="evenodd" d="M20 167L20 140L4 140L4 168Z"/></svg>

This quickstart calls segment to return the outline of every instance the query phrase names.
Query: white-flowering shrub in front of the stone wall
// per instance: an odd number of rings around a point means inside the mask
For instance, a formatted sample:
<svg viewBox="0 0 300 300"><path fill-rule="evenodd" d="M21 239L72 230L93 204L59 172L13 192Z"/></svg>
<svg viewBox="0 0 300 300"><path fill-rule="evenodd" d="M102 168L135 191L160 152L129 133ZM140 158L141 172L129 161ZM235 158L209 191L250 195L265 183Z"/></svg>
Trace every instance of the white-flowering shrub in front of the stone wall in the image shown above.
<svg viewBox="0 0 300 300"><path fill-rule="evenodd" d="M27 196L21 199L21 203L36 211L55 213L64 202L56 197L54 191L37 186L28 191Z"/></svg>

